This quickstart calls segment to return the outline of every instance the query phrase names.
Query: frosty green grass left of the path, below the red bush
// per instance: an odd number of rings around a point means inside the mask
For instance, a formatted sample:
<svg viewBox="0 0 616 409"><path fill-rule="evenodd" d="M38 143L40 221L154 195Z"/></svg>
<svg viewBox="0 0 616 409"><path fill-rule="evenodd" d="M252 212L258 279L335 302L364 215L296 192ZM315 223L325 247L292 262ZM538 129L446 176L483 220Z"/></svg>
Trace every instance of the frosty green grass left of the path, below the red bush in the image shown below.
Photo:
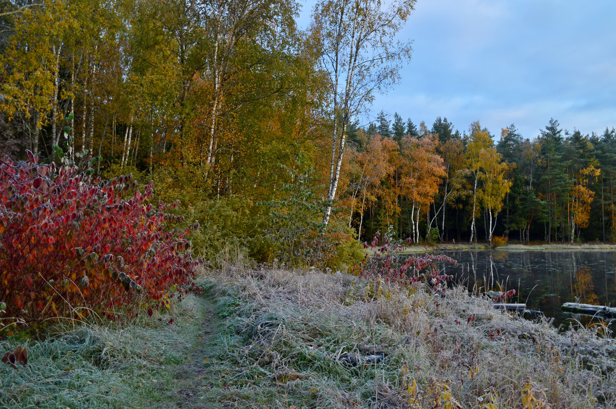
<svg viewBox="0 0 616 409"><path fill-rule="evenodd" d="M129 324L83 324L28 348L28 365L0 364L0 408L166 408L174 371L197 339L200 311L189 295L174 311ZM183 310L188 310L185 312ZM177 324L168 324L171 317ZM161 320L158 320L158 319Z"/></svg>

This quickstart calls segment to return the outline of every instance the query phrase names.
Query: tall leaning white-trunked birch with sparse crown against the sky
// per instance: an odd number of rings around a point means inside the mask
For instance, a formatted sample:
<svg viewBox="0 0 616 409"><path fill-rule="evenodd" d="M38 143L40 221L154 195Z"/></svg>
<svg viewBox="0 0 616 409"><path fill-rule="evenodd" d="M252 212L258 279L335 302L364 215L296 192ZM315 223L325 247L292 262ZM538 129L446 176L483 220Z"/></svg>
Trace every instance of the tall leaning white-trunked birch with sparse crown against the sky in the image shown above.
<svg viewBox="0 0 616 409"><path fill-rule="evenodd" d="M313 14L310 34L320 50L320 68L328 76L331 161L323 224L331 215L349 119L360 114L399 77L410 57L410 42L395 40L415 0L322 0Z"/></svg>

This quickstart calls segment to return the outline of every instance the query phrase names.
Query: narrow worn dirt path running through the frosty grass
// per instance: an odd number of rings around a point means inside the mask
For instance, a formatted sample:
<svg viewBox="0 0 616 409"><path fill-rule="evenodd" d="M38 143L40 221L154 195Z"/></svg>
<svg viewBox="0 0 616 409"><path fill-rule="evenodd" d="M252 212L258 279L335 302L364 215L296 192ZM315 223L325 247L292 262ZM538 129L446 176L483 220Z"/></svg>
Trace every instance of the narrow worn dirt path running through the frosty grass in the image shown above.
<svg viewBox="0 0 616 409"><path fill-rule="evenodd" d="M200 324L198 340L193 345L188 362L177 368L177 408L205 409L212 408L213 397L209 393L212 384L210 359L213 355L213 344L219 330L220 321L216 316L216 306L205 297L200 297L203 308L203 318Z"/></svg>

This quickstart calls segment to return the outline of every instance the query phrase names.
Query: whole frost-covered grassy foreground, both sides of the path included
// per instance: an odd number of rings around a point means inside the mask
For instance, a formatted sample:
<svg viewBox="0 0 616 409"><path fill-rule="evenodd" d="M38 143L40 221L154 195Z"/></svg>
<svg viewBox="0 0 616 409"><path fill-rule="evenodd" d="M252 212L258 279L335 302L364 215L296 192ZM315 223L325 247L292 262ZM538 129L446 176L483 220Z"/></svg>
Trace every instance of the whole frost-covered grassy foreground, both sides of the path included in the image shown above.
<svg viewBox="0 0 616 409"><path fill-rule="evenodd" d="M602 327L559 334L464 288L345 274L224 268L198 282L206 295L160 315L27 343L26 367L0 365L0 408L616 407Z"/></svg>

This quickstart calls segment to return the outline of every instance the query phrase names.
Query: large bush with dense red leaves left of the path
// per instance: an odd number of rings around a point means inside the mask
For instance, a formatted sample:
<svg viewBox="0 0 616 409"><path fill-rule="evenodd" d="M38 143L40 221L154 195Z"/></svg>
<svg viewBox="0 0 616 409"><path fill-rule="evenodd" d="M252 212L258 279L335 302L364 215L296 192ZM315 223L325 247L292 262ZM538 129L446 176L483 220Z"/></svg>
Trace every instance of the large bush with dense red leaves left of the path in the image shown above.
<svg viewBox="0 0 616 409"><path fill-rule="evenodd" d="M131 175L111 180L81 167L0 159L0 302L5 317L115 317L184 292L197 265L174 229L174 205L150 203ZM66 163L66 162L63 162ZM150 310L151 311L151 310ZM8 319L8 318L6 318Z"/></svg>

